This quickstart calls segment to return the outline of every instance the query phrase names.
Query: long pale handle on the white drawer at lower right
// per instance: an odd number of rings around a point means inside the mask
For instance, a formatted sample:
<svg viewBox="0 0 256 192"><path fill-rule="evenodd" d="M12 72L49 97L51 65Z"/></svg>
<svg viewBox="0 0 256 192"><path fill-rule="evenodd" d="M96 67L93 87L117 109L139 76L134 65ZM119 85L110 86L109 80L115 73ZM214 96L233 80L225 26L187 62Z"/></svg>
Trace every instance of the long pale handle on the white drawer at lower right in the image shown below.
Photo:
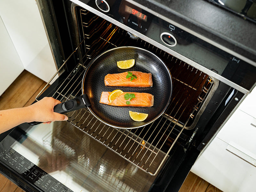
<svg viewBox="0 0 256 192"><path fill-rule="evenodd" d="M245 148L242 148L241 146L237 145L233 141L230 141L226 150L256 167L256 155L246 150Z"/></svg>

